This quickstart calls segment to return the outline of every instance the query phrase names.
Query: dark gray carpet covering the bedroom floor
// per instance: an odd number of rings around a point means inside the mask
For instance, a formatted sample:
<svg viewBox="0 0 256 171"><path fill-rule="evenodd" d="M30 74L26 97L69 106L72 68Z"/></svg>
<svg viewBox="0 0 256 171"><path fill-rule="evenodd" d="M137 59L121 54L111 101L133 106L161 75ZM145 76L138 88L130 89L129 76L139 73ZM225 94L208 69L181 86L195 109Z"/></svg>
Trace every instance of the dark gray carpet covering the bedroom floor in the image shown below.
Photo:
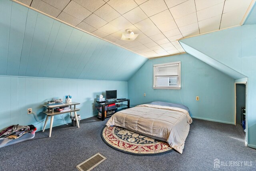
<svg viewBox="0 0 256 171"><path fill-rule="evenodd" d="M107 121L108 119L106 119ZM100 136L106 121L84 119L70 125L36 132L32 140L0 148L1 171L76 171L76 165L100 152L107 157L95 171L217 170L213 161L252 161L252 166L220 166L218 170L256 170L256 150L245 147L240 125L193 119L183 154L135 156L114 150Z"/></svg>

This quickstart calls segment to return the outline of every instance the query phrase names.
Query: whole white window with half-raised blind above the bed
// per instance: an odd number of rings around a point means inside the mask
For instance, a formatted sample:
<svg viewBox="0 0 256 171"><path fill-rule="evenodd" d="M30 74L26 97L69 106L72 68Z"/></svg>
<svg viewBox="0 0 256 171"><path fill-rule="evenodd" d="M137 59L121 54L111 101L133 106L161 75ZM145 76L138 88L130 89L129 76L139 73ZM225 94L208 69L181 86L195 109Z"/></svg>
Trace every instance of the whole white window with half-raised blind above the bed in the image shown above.
<svg viewBox="0 0 256 171"><path fill-rule="evenodd" d="M180 62L157 64L154 70L154 89L180 89Z"/></svg>

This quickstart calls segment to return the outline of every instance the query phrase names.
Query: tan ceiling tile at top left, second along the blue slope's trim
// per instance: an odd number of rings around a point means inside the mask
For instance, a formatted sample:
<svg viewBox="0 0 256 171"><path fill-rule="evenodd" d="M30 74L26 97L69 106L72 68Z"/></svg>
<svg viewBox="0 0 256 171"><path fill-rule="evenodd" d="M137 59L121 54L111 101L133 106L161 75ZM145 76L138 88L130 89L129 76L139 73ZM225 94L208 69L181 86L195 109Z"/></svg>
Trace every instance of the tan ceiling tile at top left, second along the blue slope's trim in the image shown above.
<svg viewBox="0 0 256 171"><path fill-rule="evenodd" d="M33 0L32 1L32 4L31 4L31 7L32 8L35 8L41 12L44 12L50 16L53 16L53 17L57 17L61 10L53 7L53 6L50 6L49 4L45 3L44 1L42 0Z"/></svg>

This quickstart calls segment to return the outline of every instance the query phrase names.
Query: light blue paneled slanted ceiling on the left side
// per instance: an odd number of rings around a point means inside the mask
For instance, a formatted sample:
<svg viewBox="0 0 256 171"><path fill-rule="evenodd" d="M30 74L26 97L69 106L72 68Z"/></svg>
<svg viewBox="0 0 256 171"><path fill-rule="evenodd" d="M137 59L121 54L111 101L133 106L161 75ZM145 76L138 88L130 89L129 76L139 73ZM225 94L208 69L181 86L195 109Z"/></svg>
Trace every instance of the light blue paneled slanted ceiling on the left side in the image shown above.
<svg viewBox="0 0 256 171"><path fill-rule="evenodd" d="M0 1L0 75L128 80L146 60L20 4Z"/></svg>

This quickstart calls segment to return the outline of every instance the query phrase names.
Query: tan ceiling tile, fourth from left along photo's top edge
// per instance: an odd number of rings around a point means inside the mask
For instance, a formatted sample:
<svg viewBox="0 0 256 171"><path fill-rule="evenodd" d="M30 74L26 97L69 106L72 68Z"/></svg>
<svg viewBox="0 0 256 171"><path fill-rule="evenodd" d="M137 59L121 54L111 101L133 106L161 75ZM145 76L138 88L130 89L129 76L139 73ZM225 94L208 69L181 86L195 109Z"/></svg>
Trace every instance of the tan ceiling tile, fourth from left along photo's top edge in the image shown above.
<svg viewBox="0 0 256 171"><path fill-rule="evenodd" d="M98 8L100 8L102 5L106 3L103 0L74 0L74 1L82 5L84 8L86 8L90 12L94 12L98 10Z"/></svg>

